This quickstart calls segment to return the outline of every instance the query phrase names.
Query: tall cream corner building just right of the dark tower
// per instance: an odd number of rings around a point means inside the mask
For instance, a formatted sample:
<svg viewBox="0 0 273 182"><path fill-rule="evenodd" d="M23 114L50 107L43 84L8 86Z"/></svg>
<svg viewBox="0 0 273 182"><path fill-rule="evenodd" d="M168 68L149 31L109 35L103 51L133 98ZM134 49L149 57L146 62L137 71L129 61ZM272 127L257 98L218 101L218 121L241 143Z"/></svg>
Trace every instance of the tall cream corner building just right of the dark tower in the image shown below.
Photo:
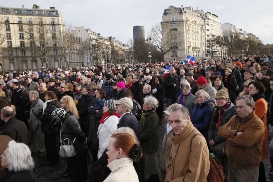
<svg viewBox="0 0 273 182"><path fill-rule="evenodd" d="M165 61L205 57L206 28L204 18L191 7L174 7L164 10L162 15L162 44L169 50Z"/></svg>

